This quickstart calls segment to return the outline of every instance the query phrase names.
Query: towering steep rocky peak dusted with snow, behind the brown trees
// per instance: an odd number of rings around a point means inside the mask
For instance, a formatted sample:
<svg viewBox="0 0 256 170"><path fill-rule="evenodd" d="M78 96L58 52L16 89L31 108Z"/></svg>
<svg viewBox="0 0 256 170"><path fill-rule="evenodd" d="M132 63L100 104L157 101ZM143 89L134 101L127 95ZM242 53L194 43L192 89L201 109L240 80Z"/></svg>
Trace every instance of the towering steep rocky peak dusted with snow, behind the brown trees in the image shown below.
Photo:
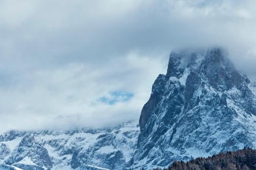
<svg viewBox="0 0 256 170"><path fill-rule="evenodd" d="M256 147L253 83L222 48L170 54L144 105L135 167Z"/></svg>

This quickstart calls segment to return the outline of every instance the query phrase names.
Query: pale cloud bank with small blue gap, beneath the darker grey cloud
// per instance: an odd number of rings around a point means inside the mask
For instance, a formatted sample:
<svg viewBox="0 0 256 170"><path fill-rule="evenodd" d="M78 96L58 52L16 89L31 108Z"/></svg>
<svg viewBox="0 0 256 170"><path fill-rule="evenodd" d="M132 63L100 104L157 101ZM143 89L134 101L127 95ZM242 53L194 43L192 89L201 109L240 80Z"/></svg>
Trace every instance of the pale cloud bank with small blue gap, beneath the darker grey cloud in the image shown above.
<svg viewBox="0 0 256 170"><path fill-rule="evenodd" d="M138 120L164 70L158 58L129 54L100 68L77 62L13 76L0 88L0 120L8 122L1 130L99 128Z"/></svg>

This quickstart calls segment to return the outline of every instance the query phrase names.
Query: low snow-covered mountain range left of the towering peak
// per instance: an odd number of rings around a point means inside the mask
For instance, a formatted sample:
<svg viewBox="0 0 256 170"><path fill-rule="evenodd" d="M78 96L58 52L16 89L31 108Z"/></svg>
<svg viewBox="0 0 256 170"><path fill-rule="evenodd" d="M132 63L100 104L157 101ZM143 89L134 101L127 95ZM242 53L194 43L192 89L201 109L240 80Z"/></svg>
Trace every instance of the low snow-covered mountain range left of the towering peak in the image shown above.
<svg viewBox="0 0 256 170"><path fill-rule="evenodd" d="M9 131L0 135L0 158L25 170L123 169L135 152L138 134L136 122L106 129Z"/></svg>

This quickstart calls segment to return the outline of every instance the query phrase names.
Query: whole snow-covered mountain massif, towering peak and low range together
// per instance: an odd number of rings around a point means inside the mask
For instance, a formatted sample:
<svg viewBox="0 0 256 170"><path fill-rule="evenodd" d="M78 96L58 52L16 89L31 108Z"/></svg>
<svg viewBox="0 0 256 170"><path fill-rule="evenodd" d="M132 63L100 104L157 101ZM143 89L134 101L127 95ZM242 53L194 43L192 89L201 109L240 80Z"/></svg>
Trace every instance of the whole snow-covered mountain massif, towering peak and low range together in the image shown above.
<svg viewBox="0 0 256 170"><path fill-rule="evenodd" d="M256 83L222 48L170 54L139 125L0 135L0 163L27 169L140 169L256 148Z"/></svg>

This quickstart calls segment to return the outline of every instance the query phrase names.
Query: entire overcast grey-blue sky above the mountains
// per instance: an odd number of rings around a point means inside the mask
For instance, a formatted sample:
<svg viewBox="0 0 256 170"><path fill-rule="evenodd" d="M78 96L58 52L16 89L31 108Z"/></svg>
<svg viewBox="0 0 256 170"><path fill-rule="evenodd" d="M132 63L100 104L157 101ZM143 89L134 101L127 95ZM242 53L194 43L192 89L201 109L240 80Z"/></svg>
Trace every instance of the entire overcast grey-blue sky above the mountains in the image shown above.
<svg viewBox="0 0 256 170"><path fill-rule="evenodd" d="M139 119L170 51L223 46L256 77L256 1L3 0L0 129Z"/></svg>

